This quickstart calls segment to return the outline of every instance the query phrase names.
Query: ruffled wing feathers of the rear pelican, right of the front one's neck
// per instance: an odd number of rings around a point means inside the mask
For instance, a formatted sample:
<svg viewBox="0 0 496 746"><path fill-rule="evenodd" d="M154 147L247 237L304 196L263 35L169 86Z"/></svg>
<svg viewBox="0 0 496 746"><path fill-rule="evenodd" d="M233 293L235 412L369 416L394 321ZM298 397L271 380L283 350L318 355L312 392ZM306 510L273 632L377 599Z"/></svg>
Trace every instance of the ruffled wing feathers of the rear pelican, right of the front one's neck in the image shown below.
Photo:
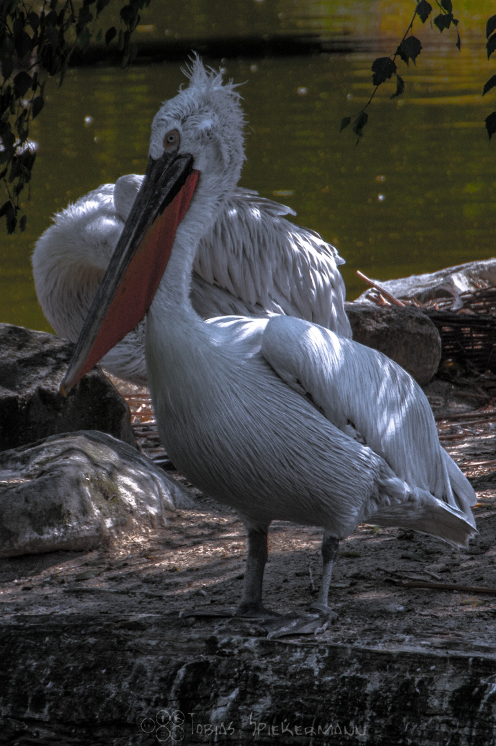
<svg viewBox="0 0 496 746"><path fill-rule="evenodd" d="M299 316L351 336L334 246L293 225L288 207L235 189L197 251L194 272L247 304L249 313ZM213 250L212 250L213 248Z"/></svg>

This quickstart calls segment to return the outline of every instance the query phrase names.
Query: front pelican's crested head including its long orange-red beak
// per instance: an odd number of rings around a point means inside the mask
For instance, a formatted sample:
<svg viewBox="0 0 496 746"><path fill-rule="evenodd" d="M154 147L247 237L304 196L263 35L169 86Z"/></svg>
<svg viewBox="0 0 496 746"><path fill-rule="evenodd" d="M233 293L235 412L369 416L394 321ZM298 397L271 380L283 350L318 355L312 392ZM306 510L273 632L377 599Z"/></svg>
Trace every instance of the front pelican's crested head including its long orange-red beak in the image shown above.
<svg viewBox="0 0 496 746"><path fill-rule="evenodd" d="M153 119L144 181L81 330L63 394L144 318L191 200L197 220L182 228L200 239L238 183L245 122L236 86L223 84L199 57L185 72L188 87Z"/></svg>

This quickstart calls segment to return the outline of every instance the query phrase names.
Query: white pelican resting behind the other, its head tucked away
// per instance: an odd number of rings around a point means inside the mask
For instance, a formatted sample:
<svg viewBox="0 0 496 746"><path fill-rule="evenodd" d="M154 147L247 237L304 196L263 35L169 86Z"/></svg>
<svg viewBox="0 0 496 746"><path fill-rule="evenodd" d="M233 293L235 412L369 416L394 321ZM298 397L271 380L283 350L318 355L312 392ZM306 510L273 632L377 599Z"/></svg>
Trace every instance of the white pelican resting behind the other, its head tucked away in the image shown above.
<svg viewBox="0 0 496 746"><path fill-rule="evenodd" d="M76 342L143 176L103 184L54 216L32 257L39 304L58 336ZM191 300L203 319L285 313L352 336L343 259L317 233L284 218L289 207L234 186L194 259ZM104 368L147 382L144 321L109 351Z"/></svg>

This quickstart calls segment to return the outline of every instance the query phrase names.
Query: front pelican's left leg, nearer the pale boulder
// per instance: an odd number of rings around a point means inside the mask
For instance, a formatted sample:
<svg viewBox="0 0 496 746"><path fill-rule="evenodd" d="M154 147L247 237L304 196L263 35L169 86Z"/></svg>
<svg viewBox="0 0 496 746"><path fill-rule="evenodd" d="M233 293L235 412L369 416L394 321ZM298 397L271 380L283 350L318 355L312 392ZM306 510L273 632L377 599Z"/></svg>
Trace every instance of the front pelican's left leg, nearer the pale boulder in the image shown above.
<svg viewBox="0 0 496 746"><path fill-rule="evenodd" d="M268 536L267 529L248 528L247 564L244 570L243 594L241 604L236 609L236 616L276 616L275 612L264 609L261 602L262 583L265 563L267 562Z"/></svg>

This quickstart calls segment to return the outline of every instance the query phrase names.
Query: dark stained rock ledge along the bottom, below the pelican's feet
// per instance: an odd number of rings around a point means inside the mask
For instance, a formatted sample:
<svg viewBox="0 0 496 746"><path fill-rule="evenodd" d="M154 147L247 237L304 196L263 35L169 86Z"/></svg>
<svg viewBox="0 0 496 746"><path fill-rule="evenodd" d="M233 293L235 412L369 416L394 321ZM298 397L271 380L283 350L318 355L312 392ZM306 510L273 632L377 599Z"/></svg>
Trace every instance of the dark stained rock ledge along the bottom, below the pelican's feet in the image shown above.
<svg viewBox="0 0 496 746"><path fill-rule="evenodd" d="M494 746L494 648L283 643L85 601L1 620L5 744Z"/></svg>

